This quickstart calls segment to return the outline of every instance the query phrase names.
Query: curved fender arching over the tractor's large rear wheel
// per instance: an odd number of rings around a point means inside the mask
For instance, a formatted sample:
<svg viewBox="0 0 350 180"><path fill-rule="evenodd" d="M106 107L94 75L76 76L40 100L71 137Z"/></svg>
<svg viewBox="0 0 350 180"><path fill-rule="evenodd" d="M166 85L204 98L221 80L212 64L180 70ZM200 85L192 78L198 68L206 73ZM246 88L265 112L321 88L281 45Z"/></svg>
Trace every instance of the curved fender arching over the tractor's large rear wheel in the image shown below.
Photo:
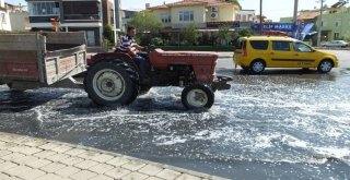
<svg viewBox="0 0 350 180"><path fill-rule="evenodd" d="M135 68L137 68L138 65L136 64L136 62L132 60L132 58L128 55L128 53L124 53L124 52L103 52L103 53L96 53L95 56L91 57L90 60L88 60L88 64L89 65L93 65L96 62L100 61L109 61L109 60L121 60L126 63L128 63L129 65L132 65Z"/></svg>

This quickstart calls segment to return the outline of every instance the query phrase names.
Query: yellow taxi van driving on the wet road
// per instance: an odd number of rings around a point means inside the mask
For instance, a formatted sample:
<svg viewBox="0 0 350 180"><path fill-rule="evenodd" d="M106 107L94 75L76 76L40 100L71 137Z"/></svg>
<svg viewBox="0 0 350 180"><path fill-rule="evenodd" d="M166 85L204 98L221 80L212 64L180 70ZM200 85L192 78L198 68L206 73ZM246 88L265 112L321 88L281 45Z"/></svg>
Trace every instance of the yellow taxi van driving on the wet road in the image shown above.
<svg viewBox="0 0 350 180"><path fill-rule="evenodd" d="M256 74L261 73L265 68L317 68L318 72L327 73L339 63L335 55L281 36L240 38L233 61Z"/></svg>

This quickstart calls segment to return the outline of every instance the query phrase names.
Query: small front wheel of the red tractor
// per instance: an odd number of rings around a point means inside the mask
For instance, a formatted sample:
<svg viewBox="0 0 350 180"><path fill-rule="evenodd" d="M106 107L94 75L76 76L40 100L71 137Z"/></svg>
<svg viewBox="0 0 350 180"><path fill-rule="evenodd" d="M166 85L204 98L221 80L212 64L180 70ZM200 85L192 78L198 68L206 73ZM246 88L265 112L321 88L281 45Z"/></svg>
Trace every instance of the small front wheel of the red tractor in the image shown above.
<svg viewBox="0 0 350 180"><path fill-rule="evenodd" d="M182 103L187 109L209 109L214 103L214 93L206 84L192 84L184 88Z"/></svg>

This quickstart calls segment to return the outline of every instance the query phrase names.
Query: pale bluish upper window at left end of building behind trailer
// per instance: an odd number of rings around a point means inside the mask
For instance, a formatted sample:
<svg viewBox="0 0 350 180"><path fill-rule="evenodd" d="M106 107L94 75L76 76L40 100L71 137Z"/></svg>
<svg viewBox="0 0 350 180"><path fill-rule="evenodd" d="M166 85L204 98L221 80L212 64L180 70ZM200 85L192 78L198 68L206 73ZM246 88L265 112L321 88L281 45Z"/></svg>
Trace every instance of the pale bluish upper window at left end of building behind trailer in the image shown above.
<svg viewBox="0 0 350 180"><path fill-rule="evenodd" d="M59 14L58 2L30 2L30 15L57 15Z"/></svg>

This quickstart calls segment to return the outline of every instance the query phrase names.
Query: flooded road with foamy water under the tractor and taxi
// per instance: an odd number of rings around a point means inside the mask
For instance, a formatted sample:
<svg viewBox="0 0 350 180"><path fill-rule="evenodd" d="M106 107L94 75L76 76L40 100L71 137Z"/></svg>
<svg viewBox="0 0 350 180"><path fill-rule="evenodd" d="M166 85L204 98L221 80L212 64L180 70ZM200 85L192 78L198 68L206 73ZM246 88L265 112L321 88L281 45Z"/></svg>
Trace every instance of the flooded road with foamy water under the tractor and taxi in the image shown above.
<svg viewBox="0 0 350 180"><path fill-rule="evenodd" d="M98 108L84 91L0 86L0 131L97 147L230 179L349 179L350 70L267 70L234 77L209 111L180 88Z"/></svg>

